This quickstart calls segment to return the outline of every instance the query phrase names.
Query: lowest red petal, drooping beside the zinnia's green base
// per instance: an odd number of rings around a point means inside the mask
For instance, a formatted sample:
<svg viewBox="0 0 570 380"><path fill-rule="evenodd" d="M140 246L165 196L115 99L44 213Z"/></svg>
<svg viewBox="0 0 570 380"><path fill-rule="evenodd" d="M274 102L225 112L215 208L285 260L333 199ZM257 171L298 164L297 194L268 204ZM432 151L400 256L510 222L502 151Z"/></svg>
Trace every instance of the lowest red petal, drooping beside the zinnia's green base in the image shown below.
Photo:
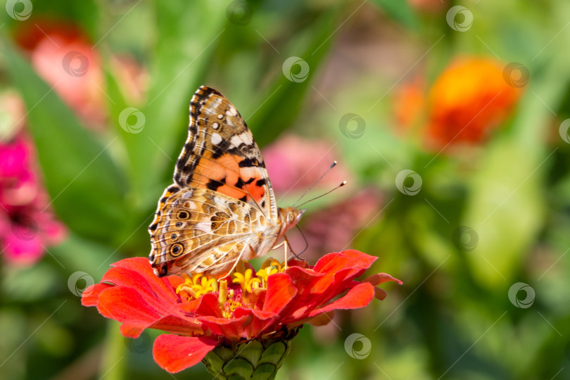
<svg viewBox="0 0 570 380"><path fill-rule="evenodd" d="M170 373L198 364L211 350L217 341L204 337L159 335L154 341L154 361Z"/></svg>

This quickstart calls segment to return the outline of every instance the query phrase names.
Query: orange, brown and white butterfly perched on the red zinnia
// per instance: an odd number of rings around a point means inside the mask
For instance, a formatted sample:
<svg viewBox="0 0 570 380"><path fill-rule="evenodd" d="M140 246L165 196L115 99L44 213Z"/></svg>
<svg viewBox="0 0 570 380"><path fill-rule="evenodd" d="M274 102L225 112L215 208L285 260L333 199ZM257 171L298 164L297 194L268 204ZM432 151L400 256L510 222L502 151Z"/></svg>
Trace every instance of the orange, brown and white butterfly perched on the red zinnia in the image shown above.
<svg viewBox="0 0 570 380"><path fill-rule="evenodd" d="M173 179L148 227L148 260L158 277L224 277L239 260L280 246L305 211L277 207L253 134L232 103L210 87L192 96L188 139Z"/></svg>

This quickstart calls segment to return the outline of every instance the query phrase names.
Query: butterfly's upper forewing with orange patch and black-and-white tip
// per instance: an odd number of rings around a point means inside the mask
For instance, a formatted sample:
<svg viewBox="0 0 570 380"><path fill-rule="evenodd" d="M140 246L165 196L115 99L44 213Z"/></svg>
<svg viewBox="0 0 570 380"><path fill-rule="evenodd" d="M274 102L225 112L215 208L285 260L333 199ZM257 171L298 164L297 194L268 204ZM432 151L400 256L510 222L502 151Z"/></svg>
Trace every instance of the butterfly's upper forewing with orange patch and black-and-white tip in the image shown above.
<svg viewBox="0 0 570 380"><path fill-rule="evenodd" d="M174 182L226 194L277 220L277 205L253 134L229 101L202 86L190 103L190 125Z"/></svg>

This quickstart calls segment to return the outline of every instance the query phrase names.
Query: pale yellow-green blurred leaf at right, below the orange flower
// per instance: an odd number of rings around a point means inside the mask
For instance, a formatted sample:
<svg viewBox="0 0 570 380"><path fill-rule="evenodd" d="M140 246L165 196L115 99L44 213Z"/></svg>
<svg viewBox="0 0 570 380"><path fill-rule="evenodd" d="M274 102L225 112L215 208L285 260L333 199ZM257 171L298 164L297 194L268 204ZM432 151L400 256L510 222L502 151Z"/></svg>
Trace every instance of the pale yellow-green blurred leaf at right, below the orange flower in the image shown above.
<svg viewBox="0 0 570 380"><path fill-rule="evenodd" d="M464 220L479 241L467 258L476 279L490 289L512 278L543 226L545 172L555 153L545 146L552 116L544 103L556 107L556 99L562 99L566 82L558 72L563 65L552 64L529 82L512 135L493 141L471 182Z"/></svg>

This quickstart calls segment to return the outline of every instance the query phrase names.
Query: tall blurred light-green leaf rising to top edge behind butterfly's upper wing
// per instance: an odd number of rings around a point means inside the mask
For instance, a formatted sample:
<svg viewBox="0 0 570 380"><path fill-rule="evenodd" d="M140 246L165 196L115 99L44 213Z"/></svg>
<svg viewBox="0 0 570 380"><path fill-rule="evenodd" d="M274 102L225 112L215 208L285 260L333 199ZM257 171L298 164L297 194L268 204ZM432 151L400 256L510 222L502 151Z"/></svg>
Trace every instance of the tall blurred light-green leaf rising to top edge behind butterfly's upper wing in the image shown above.
<svg viewBox="0 0 570 380"><path fill-rule="evenodd" d="M126 134L130 181L129 200L135 210L148 210L163 191L165 173L172 176L180 132L187 133L188 105L201 83L209 57L225 32L224 1L156 1L160 38L150 64L153 79L148 91L144 129ZM205 17L205 15L208 15ZM182 38L191 36L191 38ZM118 122L118 121L116 121ZM175 152L175 153L172 153Z"/></svg>

